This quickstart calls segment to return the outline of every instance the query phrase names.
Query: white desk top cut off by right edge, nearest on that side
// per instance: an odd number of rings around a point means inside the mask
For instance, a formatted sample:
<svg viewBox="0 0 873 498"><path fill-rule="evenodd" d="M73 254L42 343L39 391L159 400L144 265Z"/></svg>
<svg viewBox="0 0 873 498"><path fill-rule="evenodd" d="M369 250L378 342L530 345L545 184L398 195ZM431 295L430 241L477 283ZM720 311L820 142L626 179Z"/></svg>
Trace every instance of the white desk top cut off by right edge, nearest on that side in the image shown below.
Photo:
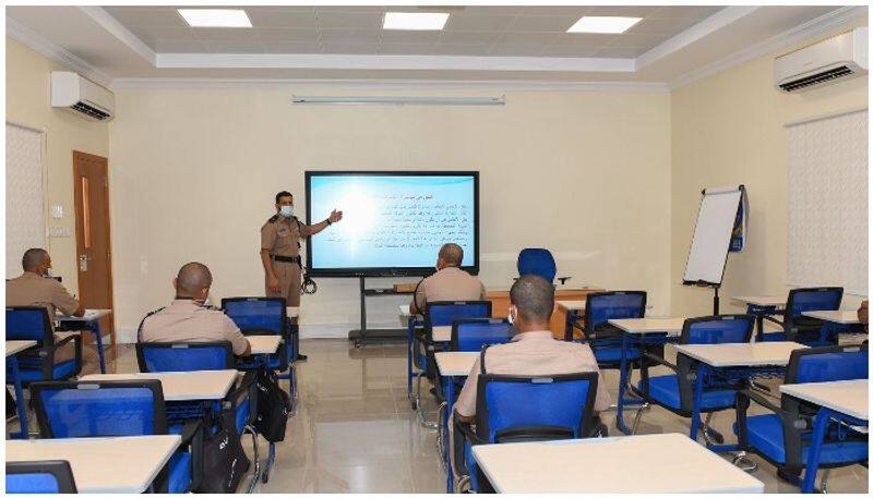
<svg viewBox="0 0 873 498"><path fill-rule="evenodd" d="M833 382L784 384L779 386L782 394L810 401L835 412L869 420L869 381L837 380Z"/></svg>

